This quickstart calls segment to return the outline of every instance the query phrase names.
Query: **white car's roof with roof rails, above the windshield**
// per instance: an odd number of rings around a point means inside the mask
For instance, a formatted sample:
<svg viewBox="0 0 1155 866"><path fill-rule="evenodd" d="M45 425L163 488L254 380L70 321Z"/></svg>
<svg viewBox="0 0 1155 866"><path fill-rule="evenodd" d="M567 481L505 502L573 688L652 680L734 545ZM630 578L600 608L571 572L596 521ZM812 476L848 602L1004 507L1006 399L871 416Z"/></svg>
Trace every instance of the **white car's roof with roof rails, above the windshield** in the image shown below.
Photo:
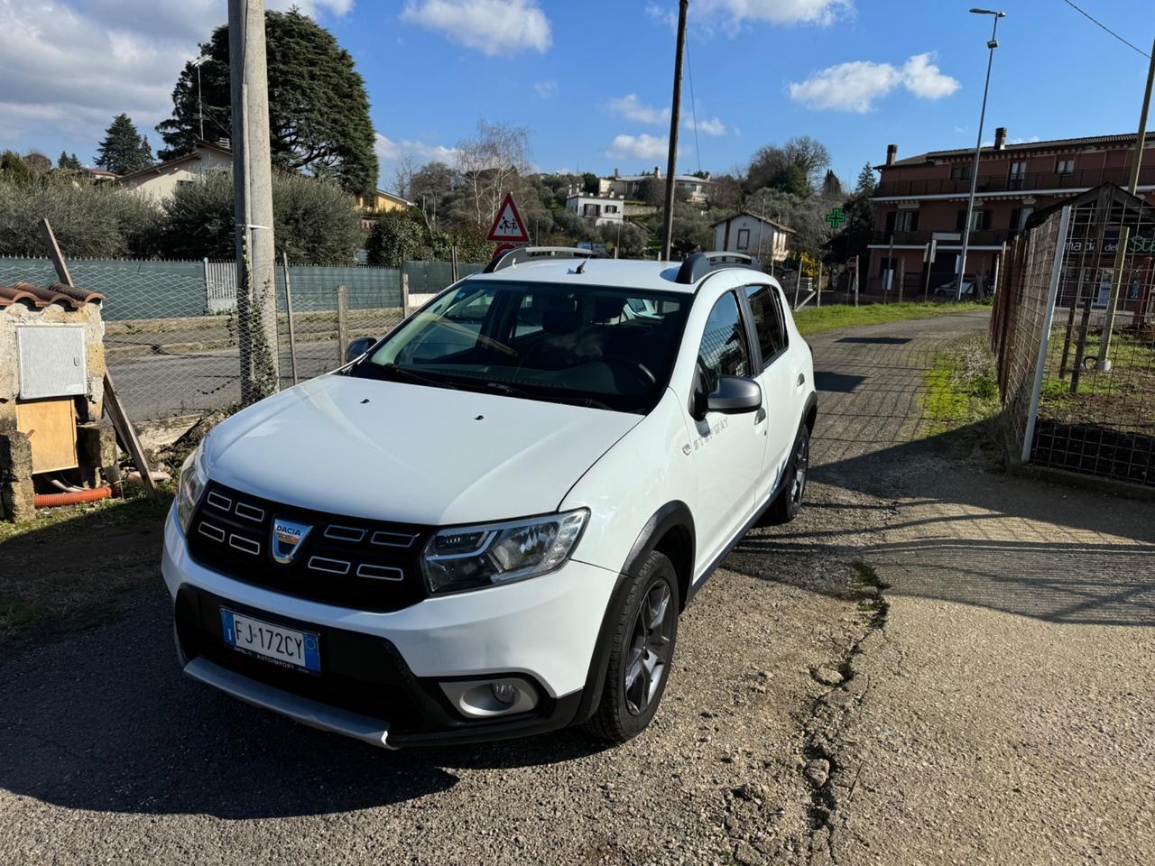
<svg viewBox="0 0 1155 866"><path fill-rule="evenodd" d="M584 263L581 273L578 266ZM523 261L501 268L491 274L478 271L467 279L495 279L498 282L524 283L572 283L574 285L601 285L614 289L642 289L647 291L664 291L693 294L702 279L718 270L740 270L751 278L766 279L767 274L752 268L726 264L715 268L709 274L693 283L679 283L678 270L681 262L658 262L638 259L580 259L543 257L539 261Z"/></svg>

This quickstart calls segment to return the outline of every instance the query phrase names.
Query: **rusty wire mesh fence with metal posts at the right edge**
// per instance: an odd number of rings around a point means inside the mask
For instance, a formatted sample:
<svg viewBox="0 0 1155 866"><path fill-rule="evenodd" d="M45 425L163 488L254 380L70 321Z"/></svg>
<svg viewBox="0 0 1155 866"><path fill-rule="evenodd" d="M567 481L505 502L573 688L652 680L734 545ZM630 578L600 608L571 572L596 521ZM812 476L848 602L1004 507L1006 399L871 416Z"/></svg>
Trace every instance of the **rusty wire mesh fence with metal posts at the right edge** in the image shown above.
<svg viewBox="0 0 1155 866"><path fill-rule="evenodd" d="M991 320L1023 463L1155 487L1155 209L1112 186L1041 215Z"/></svg>

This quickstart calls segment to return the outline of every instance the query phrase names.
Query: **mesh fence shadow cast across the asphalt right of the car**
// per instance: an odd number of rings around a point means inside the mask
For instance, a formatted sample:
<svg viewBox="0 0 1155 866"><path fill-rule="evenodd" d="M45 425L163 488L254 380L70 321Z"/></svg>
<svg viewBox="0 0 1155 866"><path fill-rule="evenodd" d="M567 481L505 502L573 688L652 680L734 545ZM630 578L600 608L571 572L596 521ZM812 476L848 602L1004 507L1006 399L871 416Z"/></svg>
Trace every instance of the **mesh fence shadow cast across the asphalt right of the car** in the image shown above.
<svg viewBox="0 0 1155 866"><path fill-rule="evenodd" d="M751 532L725 567L757 575L767 555L821 548L874 566L894 595L1155 626L1155 506L984 471L974 451L989 438L963 427L815 466L810 514Z"/></svg>

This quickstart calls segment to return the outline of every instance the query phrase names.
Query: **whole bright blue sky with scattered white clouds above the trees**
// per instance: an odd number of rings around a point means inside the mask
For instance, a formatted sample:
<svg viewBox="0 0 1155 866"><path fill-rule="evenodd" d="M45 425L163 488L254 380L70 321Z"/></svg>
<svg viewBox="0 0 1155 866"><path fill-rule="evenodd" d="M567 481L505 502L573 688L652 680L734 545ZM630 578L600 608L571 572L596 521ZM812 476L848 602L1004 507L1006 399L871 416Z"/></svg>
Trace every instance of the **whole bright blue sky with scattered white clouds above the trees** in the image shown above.
<svg viewBox="0 0 1155 866"><path fill-rule="evenodd" d="M1145 51L1150 0L1078 0ZM288 6L273 0L270 7ZM365 76L392 185L401 155L452 159L477 120L529 128L543 171L664 170L677 3L669 0L298 2ZM812 135L852 182L886 145L967 147L977 130L990 18L954 0L692 0L699 130L679 169L728 171ZM1131 132L1146 59L1064 0L1005 0L986 139ZM92 158L127 111L151 133L181 62L223 0L0 0L0 148ZM691 114L690 77L684 118ZM157 140L155 134L151 136Z"/></svg>

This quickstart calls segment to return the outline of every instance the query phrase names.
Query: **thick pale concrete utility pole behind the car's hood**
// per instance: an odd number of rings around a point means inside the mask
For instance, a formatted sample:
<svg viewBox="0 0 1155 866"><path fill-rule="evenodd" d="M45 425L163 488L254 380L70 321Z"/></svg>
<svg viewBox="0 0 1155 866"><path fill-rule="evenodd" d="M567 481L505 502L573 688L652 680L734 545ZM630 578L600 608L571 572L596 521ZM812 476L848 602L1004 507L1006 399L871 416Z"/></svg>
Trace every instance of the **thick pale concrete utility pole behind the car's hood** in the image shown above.
<svg viewBox="0 0 1155 866"><path fill-rule="evenodd" d="M240 402L248 405L280 387L263 0L229 0L229 74Z"/></svg>

